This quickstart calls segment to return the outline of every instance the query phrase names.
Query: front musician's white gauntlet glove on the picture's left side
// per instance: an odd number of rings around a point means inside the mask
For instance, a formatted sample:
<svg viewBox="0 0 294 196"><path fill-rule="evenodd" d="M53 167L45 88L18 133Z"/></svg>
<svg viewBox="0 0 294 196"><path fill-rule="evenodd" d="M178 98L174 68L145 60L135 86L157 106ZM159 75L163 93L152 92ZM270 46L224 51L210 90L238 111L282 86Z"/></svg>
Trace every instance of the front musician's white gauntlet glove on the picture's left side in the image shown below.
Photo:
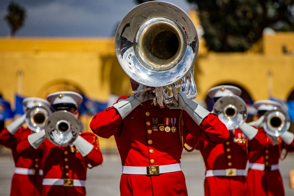
<svg viewBox="0 0 294 196"><path fill-rule="evenodd" d="M137 88L137 90L142 90L144 88L147 88L146 86L143 86L140 84L140 86ZM113 108L116 108L119 115L121 115L121 118L124 119L133 109L135 109L138 105L141 103L153 99L153 95L148 93L147 91L138 93L138 95L133 95L125 100L122 100L116 104L113 105Z"/></svg>

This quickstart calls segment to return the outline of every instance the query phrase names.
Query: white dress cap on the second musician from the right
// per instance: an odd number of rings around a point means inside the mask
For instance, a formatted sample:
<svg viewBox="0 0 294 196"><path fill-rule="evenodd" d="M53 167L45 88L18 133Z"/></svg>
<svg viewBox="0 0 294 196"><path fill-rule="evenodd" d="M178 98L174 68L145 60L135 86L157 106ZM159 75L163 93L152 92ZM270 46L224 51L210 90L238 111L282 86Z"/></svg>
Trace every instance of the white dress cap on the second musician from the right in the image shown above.
<svg viewBox="0 0 294 196"><path fill-rule="evenodd" d="M221 85L209 89L207 94L210 98L216 98L230 95L240 96L241 93L241 89L236 86Z"/></svg>

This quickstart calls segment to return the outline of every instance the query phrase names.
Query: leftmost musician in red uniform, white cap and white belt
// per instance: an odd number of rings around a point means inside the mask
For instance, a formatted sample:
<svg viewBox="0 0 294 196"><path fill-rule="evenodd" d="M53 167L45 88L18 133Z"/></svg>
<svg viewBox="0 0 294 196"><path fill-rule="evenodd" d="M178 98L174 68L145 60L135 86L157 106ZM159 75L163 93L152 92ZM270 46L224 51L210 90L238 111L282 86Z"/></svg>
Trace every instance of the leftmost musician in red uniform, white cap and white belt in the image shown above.
<svg viewBox="0 0 294 196"><path fill-rule="evenodd" d="M34 106L50 108L51 104L45 99L30 97L23 100L23 106L28 110ZM36 131L23 124L25 119L26 114L9 124L0 133L0 144L11 149L15 165L11 180L11 196L38 196L42 191L43 170L40 152L34 151L30 156L20 156L16 151L17 144Z"/></svg>

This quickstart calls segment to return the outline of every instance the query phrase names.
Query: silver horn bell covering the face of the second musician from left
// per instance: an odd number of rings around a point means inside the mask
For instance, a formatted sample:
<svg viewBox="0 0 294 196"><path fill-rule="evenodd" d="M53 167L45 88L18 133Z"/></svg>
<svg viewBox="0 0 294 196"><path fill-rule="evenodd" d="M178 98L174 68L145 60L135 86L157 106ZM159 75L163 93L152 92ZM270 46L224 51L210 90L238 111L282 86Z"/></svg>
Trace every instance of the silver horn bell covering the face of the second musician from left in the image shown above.
<svg viewBox="0 0 294 196"><path fill-rule="evenodd" d="M55 145L68 146L76 139L79 132L78 119L66 110L56 111L46 120L46 137Z"/></svg>

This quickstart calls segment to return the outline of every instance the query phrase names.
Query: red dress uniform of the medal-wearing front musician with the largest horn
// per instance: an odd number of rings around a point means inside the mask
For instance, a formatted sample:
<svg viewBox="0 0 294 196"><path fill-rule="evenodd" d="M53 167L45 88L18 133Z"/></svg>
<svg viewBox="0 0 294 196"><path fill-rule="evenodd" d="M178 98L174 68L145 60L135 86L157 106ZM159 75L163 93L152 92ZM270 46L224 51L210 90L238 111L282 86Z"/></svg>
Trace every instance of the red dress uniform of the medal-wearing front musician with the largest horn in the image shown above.
<svg viewBox="0 0 294 196"><path fill-rule="evenodd" d="M121 98L127 98L123 96ZM96 114L90 127L94 133L103 138L114 135L123 166L146 167L181 163L183 151L179 137L177 109L159 108L149 100L136 107L122 120L113 107ZM152 118L176 118L176 132L154 131ZM200 140L210 143L222 143L228 138L228 130L216 115L209 114L198 126L183 111L183 136L190 132ZM166 127L166 125L164 125ZM169 124L171 128L171 124ZM120 182L121 195L187 195L185 177L182 171L160 175L122 174Z"/></svg>

